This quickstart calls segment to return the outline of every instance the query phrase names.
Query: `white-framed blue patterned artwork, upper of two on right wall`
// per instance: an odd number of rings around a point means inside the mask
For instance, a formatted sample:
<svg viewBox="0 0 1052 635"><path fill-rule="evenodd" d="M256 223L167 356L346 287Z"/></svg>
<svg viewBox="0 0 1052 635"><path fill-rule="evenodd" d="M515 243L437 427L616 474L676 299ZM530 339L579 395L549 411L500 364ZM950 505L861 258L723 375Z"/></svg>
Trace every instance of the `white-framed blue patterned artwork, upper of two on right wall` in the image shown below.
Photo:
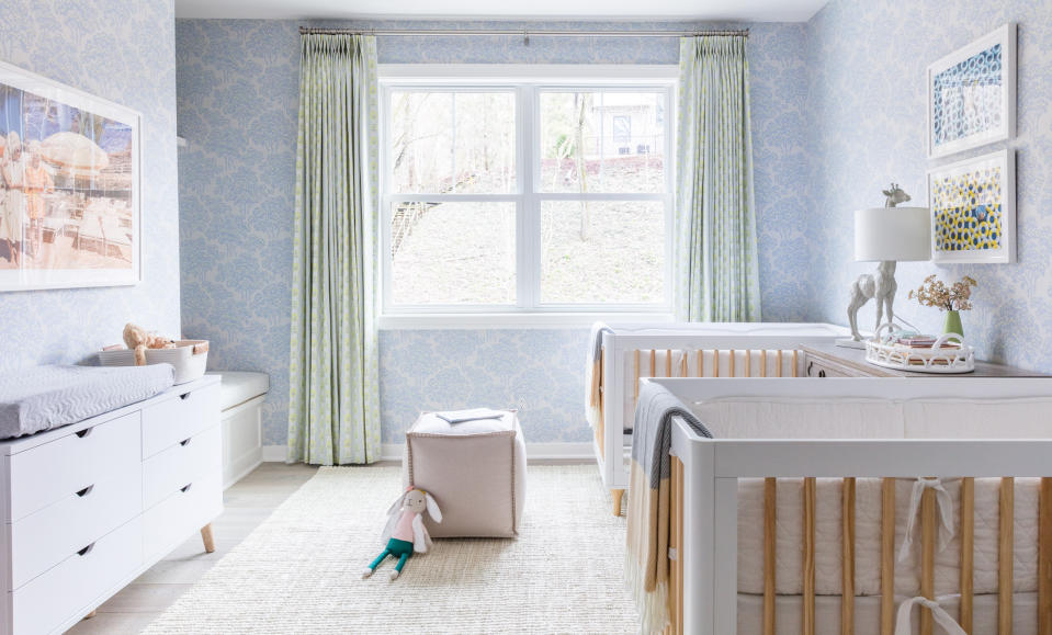
<svg viewBox="0 0 1052 635"><path fill-rule="evenodd" d="M1016 25L1008 23L928 67L928 158L1016 134Z"/></svg>

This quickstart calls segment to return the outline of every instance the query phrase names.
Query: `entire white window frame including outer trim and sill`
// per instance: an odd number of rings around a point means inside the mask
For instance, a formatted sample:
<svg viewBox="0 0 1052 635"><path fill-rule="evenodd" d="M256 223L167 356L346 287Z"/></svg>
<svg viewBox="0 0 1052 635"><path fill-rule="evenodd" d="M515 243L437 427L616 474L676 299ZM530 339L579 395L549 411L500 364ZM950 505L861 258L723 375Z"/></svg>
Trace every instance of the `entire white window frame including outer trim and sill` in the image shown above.
<svg viewBox="0 0 1052 635"><path fill-rule="evenodd" d="M672 320L672 208L676 80L672 65L380 65L380 230L381 328L477 328L494 326L578 326L596 319L611 322ZM516 190L506 194L392 194L387 156L388 104L396 90L486 91L516 94ZM658 90L666 95L665 191L653 194L543 193L533 148L540 140L540 93L544 90ZM530 114L532 116L523 116ZM528 157L530 160L528 160ZM525 184L532 184L527 188ZM516 304L395 305L391 297L392 203L412 201L507 202L516 205ZM542 201L660 201L665 206L665 302L661 304L540 303L540 209Z"/></svg>

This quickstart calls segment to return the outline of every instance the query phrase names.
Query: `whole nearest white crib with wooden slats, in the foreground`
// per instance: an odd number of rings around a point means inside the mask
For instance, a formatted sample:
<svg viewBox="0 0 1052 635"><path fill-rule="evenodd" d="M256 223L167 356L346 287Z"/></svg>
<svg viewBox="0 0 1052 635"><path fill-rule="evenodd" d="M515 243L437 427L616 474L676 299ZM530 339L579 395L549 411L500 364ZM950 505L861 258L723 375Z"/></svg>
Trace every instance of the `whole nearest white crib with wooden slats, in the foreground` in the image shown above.
<svg viewBox="0 0 1052 635"><path fill-rule="evenodd" d="M665 385L716 436L705 439L681 419L674 422L671 633L772 635L777 624L781 634L892 635L894 612L904 599L896 587L901 586L903 571L896 578L896 565L914 567L919 594L939 596L943 608L970 634L1052 633L1052 378L646 381ZM810 409L801 409L808 404ZM845 421L840 416L845 411L857 411L859 417ZM801 424L793 412L806 412L815 419L814 426ZM825 420L823 412L828 413ZM784 428L783 413L792 422ZM837 429L845 434L837 434ZM806 438L815 430L822 438ZM861 435L870 438L858 438ZM959 562L948 563L947 555L937 549L936 494L924 489L917 512L920 529L916 562L896 563L904 535L904 519L895 519L895 488L903 485L896 479L916 480L918 476L959 479L960 507L953 514L958 533L951 541L958 545ZM821 541L816 544L815 525L822 522L815 509L816 477L840 479L837 485L842 507L836 510L840 535L837 541L827 541L839 543L839 553L825 563L840 565L835 597L816 591L816 549L827 546ZM1017 477L1039 479L1017 484ZM867 483L879 487L875 515L864 512L860 502L856 507L857 488L861 492L863 480L870 478L880 479ZM751 481L759 485L760 502L739 498L747 492L748 483L739 479L762 479ZM790 593L782 588L785 580L776 580L776 571L785 577L779 563L787 545L785 523L790 522L777 511L783 509L779 507L783 495L778 492L790 483L783 479L802 479L802 526L788 528L800 532L801 543L792 543L790 552L800 549L791 555L801 565L793 571L799 579L792 580L801 590ZM986 491L994 488L997 502L993 509L983 509L983 503L976 502L980 498L975 492L981 486ZM754 487L753 492L757 491ZM789 491L796 490L790 487ZM874 490L870 487L869 491ZM1019 496L1017 491L1029 494ZM1020 504L1039 510L1015 507L1017 498ZM983 500L989 502L988 498ZM739 560L748 563L750 549L743 549L745 555L739 553L738 540L750 532L742 533L748 526L743 524L739 511L748 506L755 512L749 519L757 528L753 537L757 533L762 536L750 543L759 552L754 564L761 563L757 566L762 568L762 589L743 593ZM977 523L980 518L989 526ZM1028 524L1022 528L1026 531L1018 532L1020 541L1034 543L1036 563L1020 560L1020 553L1031 552L1014 542L1019 518L1032 519L1036 525L1036 530ZM869 562L878 571L879 591L872 582L868 592L856 588L856 580L866 578L864 571L856 570L857 562L862 566L864 559L857 558L856 553L863 534L879 541L879 556L874 556L879 559ZM986 557L986 552L980 553L976 547L983 541L992 545L996 564L992 565L991 558L977 563L979 556ZM949 571L948 564L954 570ZM981 565L992 570L981 575ZM1018 589L1014 587L1014 565L1025 574L1020 578L1026 578L1016 580ZM955 582L957 567L960 583L948 594L947 576ZM942 588L939 593L937 569ZM1034 588L1023 588L1031 583ZM976 590L976 586L992 588ZM915 627L930 635L931 612L920 609L914 613Z"/></svg>

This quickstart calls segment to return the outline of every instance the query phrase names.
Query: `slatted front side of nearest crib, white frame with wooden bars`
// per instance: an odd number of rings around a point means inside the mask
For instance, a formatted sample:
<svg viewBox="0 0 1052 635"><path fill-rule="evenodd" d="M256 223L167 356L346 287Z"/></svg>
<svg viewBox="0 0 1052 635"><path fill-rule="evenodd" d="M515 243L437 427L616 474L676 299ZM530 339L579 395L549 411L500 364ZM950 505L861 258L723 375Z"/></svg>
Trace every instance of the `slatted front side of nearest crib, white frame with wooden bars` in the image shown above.
<svg viewBox="0 0 1052 635"><path fill-rule="evenodd" d="M763 480L763 635L776 633L777 478L803 478L803 582L801 633L815 635L816 476L840 478L842 535L841 635L855 632L856 487L858 477L880 477L880 633L895 635L895 480L916 475L962 478L960 604L953 615L965 632L974 623L974 517L976 477L999 477L998 609L999 635L1011 635L1013 556L1016 477L1041 477L1038 534L1039 635L1052 635L1052 440L705 440L677 421L672 436L672 535L689 536L677 549L685 571L670 599L670 633L728 635L736 632L737 479ZM680 463L682 462L682 463ZM677 467L678 466L678 467ZM935 599L938 508L936 491L925 489L920 511L920 593ZM686 610L685 610L686 608ZM935 632L931 610L920 608L920 635ZM897 634L902 635L902 634Z"/></svg>

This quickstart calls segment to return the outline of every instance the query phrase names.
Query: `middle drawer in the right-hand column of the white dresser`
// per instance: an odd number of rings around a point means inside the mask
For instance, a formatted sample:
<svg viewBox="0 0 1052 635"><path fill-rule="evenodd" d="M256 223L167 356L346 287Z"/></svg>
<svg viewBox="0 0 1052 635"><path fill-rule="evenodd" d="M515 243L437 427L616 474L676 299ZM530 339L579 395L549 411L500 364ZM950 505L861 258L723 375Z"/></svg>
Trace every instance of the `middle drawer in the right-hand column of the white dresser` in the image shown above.
<svg viewBox="0 0 1052 635"><path fill-rule="evenodd" d="M189 483L223 467L219 427L199 432L143 463L143 509L149 509Z"/></svg>

